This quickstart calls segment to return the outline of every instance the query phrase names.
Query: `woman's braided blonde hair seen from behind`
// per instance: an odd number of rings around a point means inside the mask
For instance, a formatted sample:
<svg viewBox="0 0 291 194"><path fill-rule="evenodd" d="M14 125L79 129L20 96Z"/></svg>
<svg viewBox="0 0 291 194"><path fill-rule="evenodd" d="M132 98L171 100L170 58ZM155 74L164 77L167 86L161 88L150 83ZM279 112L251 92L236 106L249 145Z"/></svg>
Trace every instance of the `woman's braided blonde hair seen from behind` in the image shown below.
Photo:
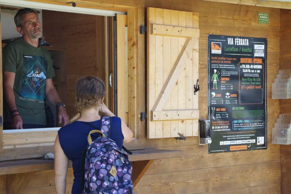
<svg viewBox="0 0 291 194"><path fill-rule="evenodd" d="M105 95L105 85L103 81L95 76L80 77L75 84L76 91L76 109L75 115L69 121L69 124L81 117L83 110L91 107L98 108Z"/></svg>

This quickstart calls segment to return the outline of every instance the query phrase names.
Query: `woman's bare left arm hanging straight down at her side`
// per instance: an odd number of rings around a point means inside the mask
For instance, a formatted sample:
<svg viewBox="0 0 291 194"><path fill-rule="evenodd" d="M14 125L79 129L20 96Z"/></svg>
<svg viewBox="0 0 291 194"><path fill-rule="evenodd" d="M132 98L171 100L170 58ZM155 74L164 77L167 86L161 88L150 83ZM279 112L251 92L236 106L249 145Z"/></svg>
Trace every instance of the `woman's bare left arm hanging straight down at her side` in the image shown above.
<svg viewBox="0 0 291 194"><path fill-rule="evenodd" d="M66 192L66 177L68 172L69 159L65 155L58 135L56 136L54 144L54 171L55 171L55 189L57 194L64 194Z"/></svg>

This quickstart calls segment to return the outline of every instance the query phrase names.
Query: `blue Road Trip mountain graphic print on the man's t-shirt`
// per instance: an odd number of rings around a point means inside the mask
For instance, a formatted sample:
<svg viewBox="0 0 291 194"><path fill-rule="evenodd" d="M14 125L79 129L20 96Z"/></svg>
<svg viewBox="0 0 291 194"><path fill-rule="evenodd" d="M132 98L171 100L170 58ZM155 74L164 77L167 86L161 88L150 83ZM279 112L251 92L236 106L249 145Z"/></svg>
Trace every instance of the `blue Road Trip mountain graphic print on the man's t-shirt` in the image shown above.
<svg viewBox="0 0 291 194"><path fill-rule="evenodd" d="M20 95L24 98L44 100L47 60L41 56L23 55L24 70Z"/></svg>

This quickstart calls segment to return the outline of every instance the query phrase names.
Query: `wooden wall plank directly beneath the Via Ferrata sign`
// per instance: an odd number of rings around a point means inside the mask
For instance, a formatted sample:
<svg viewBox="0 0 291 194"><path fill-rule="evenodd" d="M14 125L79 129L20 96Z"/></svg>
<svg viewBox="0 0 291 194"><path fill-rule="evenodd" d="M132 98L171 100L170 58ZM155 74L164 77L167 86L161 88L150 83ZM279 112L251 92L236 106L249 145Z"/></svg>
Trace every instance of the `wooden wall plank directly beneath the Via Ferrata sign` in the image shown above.
<svg viewBox="0 0 291 194"><path fill-rule="evenodd" d="M189 141L188 138L186 141ZM173 149L173 147L164 147L163 149ZM238 152L208 154L207 146L205 145L177 146L175 149L181 150L183 156L180 158L157 159L146 174L280 161L280 146L274 144L269 144L268 149L243 151L239 152L239 154ZM215 162L213 162L214 158Z"/></svg>

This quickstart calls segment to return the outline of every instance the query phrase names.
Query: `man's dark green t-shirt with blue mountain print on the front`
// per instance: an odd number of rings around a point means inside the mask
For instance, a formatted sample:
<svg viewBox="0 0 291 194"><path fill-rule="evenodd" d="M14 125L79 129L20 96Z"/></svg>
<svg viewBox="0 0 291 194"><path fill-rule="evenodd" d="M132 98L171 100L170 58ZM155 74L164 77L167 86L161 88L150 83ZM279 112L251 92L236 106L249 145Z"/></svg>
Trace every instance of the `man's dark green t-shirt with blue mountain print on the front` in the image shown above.
<svg viewBox="0 0 291 194"><path fill-rule="evenodd" d="M2 56L3 71L15 73L13 91L23 123L45 125L46 79L55 76L49 52L19 38L4 47ZM11 122L5 101L3 119Z"/></svg>

